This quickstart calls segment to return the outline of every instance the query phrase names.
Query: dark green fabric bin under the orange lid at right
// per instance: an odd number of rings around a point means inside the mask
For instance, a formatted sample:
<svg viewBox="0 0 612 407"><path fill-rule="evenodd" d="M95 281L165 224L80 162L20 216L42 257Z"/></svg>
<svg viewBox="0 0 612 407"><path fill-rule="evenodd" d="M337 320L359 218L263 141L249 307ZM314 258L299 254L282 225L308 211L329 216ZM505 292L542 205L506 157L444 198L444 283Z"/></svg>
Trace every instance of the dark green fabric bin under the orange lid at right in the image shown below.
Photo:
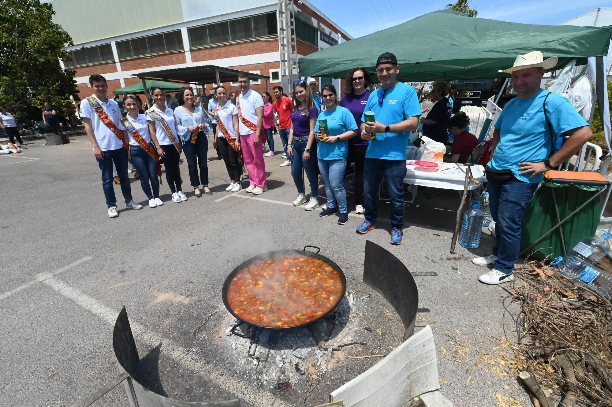
<svg viewBox="0 0 612 407"><path fill-rule="evenodd" d="M540 188L535 191L534 196L527 204L523 215L523 226L521 227L521 251L528 248L534 241L538 240L548 230L552 229L558 222L554 213L554 196L557 199L559 219L563 220L580 205L584 204L594 194L604 188L603 186L585 186L573 184L556 184L542 181ZM565 249L572 249L583 237L595 235L599 224L601 203L599 199L589 202L578 213L567 219L562 224ZM562 255L561 231L554 230L545 238L540 240L533 248L529 249L526 256L534 260L554 259ZM531 254L533 252L533 254Z"/></svg>

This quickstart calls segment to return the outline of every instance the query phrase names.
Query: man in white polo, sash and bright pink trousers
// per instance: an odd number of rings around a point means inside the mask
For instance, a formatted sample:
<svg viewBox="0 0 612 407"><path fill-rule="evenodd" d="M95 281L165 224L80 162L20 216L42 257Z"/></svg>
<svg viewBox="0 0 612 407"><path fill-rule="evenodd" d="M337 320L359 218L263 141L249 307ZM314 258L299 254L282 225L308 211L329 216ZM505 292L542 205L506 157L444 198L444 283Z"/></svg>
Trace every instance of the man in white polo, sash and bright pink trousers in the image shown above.
<svg viewBox="0 0 612 407"><path fill-rule="evenodd" d="M238 75L238 84L241 90L236 97L240 143L251 183L246 191L259 195L267 191L266 164L264 164L263 146L259 142L264 128L264 100L251 89L251 81L246 73Z"/></svg>

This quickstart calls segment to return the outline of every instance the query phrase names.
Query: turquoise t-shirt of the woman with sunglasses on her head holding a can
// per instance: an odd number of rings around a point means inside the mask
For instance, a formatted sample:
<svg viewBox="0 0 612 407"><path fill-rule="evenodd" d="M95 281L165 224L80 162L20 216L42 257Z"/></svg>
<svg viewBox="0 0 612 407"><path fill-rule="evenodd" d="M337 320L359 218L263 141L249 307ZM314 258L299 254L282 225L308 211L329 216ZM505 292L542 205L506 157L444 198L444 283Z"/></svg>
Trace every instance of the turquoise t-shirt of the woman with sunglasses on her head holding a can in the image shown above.
<svg viewBox="0 0 612 407"><path fill-rule="evenodd" d="M327 134L330 137L340 136L347 131L357 130L357 123L349 109L337 106L334 110L324 110L316 119L315 133L319 131L319 120L327 119ZM321 160L344 160L348 155L348 139L335 143L319 142L316 155Z"/></svg>

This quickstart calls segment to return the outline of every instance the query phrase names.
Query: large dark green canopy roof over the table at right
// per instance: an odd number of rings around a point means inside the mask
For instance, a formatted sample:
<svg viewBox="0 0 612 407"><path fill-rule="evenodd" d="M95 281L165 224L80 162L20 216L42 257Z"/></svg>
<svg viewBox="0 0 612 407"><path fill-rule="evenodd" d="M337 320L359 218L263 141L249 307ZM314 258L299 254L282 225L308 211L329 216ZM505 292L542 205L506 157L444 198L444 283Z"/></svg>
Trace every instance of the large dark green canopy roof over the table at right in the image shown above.
<svg viewBox="0 0 612 407"><path fill-rule="evenodd" d="M611 35L612 26L508 23L440 10L300 57L299 75L344 78L354 67L373 72L378 56L388 51L397 56L401 81L503 78L509 75L498 70L536 50L559 58L554 69L572 59L584 65L588 57L608 54Z"/></svg>

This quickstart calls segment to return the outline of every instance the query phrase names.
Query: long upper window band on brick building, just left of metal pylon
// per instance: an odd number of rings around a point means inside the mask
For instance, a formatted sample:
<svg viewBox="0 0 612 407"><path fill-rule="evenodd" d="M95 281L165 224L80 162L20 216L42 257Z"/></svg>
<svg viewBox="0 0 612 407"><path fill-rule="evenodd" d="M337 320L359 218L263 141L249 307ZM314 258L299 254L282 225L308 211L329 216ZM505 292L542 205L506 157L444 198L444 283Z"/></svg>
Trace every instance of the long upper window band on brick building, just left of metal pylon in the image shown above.
<svg viewBox="0 0 612 407"><path fill-rule="evenodd" d="M189 47L217 45L277 35L276 13L265 13L187 29Z"/></svg>

